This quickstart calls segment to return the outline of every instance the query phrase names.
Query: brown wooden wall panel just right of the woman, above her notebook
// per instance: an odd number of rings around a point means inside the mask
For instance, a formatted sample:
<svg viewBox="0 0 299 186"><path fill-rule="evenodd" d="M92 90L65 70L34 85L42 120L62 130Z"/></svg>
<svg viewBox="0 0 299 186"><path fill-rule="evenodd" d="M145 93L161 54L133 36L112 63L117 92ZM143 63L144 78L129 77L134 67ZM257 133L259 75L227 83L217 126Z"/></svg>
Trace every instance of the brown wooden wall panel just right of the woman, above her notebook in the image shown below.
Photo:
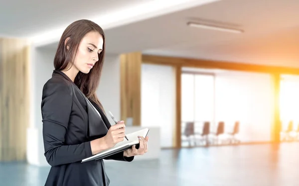
<svg viewBox="0 0 299 186"><path fill-rule="evenodd" d="M133 126L141 125L141 64L142 54L122 54L121 63L121 119L133 118Z"/></svg>

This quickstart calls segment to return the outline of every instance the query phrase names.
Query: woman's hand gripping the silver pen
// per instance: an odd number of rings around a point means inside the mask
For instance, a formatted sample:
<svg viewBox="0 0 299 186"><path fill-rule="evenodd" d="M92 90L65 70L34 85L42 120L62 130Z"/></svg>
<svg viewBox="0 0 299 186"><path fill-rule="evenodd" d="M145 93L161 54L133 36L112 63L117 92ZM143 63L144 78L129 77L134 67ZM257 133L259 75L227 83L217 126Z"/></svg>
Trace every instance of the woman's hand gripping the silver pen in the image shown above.
<svg viewBox="0 0 299 186"><path fill-rule="evenodd" d="M106 147L108 149L114 147L117 143L124 141L124 137L126 136L125 128L124 121L119 121L118 124L112 125L109 128L106 136L104 136Z"/></svg>

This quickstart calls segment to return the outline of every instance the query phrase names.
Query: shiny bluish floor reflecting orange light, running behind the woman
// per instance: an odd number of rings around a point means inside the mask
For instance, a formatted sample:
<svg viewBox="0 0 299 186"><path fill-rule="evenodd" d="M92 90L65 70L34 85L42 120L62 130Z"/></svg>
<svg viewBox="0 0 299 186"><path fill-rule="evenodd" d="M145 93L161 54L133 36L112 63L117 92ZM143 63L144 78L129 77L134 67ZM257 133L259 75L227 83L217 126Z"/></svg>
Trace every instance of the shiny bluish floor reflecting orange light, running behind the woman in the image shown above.
<svg viewBox="0 0 299 186"><path fill-rule="evenodd" d="M299 143L162 150L159 160L105 165L110 186L299 186ZM48 171L0 163L0 186L43 186Z"/></svg>

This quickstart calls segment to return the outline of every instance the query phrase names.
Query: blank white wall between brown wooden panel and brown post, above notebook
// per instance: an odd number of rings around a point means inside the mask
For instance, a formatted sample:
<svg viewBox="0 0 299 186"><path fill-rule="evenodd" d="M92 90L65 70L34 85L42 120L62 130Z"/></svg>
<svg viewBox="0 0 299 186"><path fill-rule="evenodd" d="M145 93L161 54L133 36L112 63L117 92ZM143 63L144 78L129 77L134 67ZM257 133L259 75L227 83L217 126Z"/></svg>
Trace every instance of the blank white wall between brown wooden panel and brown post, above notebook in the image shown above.
<svg viewBox="0 0 299 186"><path fill-rule="evenodd" d="M173 147L175 71L173 67L143 64L141 82L141 126L160 127L161 147Z"/></svg>

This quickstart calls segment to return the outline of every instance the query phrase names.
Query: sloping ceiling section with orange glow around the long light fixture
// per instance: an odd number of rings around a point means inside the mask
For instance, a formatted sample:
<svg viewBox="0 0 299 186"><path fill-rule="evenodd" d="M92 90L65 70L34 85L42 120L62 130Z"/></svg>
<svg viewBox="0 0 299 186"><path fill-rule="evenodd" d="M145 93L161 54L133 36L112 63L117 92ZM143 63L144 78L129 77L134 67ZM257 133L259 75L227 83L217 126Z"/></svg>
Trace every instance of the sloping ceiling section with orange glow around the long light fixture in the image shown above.
<svg viewBox="0 0 299 186"><path fill-rule="evenodd" d="M299 67L299 0L221 0L108 31L114 52ZM186 26L189 20L245 30L234 34Z"/></svg>

